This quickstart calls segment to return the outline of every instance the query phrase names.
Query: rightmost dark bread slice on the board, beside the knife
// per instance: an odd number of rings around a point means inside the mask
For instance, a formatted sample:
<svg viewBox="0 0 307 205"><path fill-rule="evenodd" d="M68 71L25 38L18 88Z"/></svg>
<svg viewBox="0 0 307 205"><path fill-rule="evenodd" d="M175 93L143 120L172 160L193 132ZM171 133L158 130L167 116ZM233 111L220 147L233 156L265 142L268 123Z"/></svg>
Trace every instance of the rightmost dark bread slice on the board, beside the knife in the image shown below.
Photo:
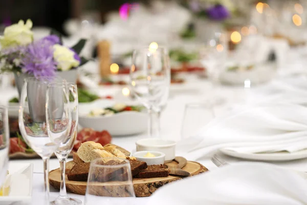
<svg viewBox="0 0 307 205"><path fill-rule="evenodd" d="M139 172L135 178L168 177L168 169L163 165L149 165L147 169Z"/></svg>

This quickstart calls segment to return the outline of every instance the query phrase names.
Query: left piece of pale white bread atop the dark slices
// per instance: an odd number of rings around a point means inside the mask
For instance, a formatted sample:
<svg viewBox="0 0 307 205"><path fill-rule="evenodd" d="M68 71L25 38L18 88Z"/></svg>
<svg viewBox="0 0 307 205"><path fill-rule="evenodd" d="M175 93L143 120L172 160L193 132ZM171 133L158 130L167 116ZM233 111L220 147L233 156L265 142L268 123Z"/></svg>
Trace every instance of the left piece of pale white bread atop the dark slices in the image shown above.
<svg viewBox="0 0 307 205"><path fill-rule="evenodd" d="M77 153L84 162L91 162L94 159L104 157L115 157L113 154L105 151L102 145L94 141L83 142Z"/></svg>

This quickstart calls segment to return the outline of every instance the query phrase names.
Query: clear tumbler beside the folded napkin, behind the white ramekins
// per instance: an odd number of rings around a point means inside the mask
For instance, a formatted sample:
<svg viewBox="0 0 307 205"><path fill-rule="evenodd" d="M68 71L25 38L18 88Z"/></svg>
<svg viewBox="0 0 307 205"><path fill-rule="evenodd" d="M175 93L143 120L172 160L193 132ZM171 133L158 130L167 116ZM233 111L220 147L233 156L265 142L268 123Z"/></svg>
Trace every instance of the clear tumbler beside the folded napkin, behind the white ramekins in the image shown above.
<svg viewBox="0 0 307 205"><path fill-rule="evenodd" d="M181 139L195 136L214 118L211 104L187 104L181 126Z"/></svg>

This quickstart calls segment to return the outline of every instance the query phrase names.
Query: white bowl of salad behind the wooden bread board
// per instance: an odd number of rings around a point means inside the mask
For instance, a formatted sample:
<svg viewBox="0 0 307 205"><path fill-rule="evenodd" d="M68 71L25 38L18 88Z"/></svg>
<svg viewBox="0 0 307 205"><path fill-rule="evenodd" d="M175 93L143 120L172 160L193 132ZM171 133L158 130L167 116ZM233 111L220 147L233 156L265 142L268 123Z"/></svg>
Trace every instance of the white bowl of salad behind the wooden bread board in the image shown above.
<svg viewBox="0 0 307 205"><path fill-rule="evenodd" d="M113 136L133 135L147 130L147 113L127 111L112 116L86 116L91 110L111 107L114 100L97 100L86 105L79 105L79 125L97 131L107 130ZM132 103L124 103L133 105Z"/></svg>

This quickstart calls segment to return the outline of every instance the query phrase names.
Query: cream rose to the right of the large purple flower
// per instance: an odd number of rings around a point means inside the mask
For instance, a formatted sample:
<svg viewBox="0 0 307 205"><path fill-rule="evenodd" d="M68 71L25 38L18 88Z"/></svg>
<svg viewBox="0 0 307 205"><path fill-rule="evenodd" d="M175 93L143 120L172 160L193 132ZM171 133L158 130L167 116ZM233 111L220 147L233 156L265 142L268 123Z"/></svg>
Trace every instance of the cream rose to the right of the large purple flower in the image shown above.
<svg viewBox="0 0 307 205"><path fill-rule="evenodd" d="M79 60L74 58L75 52L69 48L56 44L53 46L53 49L53 58L57 62L58 69L67 71L80 65Z"/></svg>

